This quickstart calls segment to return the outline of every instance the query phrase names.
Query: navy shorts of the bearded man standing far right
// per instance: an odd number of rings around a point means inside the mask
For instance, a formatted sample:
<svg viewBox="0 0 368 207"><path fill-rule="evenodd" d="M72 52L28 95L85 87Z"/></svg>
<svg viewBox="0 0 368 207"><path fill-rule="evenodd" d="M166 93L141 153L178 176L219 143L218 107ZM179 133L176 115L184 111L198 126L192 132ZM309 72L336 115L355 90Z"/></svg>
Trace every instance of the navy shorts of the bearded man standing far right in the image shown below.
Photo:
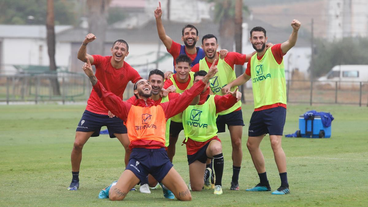
<svg viewBox="0 0 368 207"><path fill-rule="evenodd" d="M248 136L257 137L262 134L281 135L284 131L286 108L275 108L255 111L249 122Z"/></svg>

